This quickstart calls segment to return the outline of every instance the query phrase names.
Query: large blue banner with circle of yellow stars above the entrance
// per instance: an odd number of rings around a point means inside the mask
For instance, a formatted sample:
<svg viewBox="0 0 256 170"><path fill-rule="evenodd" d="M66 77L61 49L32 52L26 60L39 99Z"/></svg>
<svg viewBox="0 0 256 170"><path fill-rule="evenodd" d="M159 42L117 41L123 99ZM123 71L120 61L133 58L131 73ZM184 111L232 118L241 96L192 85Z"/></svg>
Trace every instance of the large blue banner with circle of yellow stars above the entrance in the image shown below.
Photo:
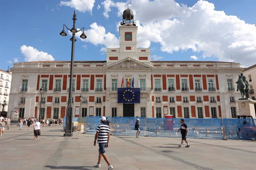
<svg viewBox="0 0 256 170"><path fill-rule="evenodd" d="M117 88L117 103L140 103L140 88Z"/></svg>

